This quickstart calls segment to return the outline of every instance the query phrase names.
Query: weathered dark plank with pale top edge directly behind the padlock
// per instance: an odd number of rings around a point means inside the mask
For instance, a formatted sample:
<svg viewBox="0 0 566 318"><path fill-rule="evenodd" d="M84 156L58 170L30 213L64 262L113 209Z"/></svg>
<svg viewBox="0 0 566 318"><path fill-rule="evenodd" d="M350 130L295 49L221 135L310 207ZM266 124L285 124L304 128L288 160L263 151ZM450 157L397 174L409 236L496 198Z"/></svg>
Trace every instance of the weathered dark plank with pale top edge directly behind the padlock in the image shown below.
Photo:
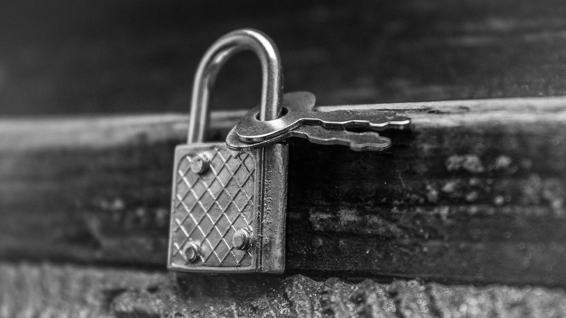
<svg viewBox="0 0 566 318"><path fill-rule="evenodd" d="M385 105L413 119L385 153L291 140L287 272L566 286L564 105ZM85 122L0 126L0 257L164 268L186 117Z"/></svg>

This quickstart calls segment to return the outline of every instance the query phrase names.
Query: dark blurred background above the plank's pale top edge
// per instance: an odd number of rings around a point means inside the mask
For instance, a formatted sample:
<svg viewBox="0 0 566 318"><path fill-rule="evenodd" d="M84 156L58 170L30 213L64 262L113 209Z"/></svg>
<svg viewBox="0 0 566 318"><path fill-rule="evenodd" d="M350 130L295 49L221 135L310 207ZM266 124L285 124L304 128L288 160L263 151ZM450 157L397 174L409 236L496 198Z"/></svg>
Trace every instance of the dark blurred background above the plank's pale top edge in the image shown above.
<svg viewBox="0 0 566 318"><path fill-rule="evenodd" d="M188 111L217 37L275 40L285 91L319 105L566 92L560 1L8 0L0 10L0 115ZM213 109L259 102L254 55L222 71Z"/></svg>

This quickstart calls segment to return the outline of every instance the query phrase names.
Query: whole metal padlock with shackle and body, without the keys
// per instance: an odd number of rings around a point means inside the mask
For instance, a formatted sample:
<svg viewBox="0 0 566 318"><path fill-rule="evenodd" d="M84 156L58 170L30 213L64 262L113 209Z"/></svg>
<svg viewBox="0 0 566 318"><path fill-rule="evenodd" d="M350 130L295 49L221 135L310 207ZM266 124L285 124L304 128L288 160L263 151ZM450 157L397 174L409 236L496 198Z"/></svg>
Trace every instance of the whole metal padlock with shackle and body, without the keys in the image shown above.
<svg viewBox="0 0 566 318"><path fill-rule="evenodd" d="M282 273L288 145L247 152L203 143L218 71L235 53L254 51L263 70L260 119L281 113L282 71L272 40L254 29L219 38L195 74L187 144L175 148L168 268L187 272Z"/></svg>

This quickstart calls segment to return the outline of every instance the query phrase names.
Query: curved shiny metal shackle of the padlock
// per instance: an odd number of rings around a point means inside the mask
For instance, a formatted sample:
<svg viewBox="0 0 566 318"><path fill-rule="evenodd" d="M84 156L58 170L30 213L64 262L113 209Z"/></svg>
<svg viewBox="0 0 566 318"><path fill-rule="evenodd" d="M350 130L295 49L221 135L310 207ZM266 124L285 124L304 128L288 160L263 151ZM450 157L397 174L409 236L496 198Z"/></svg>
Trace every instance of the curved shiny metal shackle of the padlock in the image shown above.
<svg viewBox="0 0 566 318"><path fill-rule="evenodd" d="M187 143L204 141L209 123L210 93L218 71L232 55L243 50L254 51L261 62L263 85L261 86L260 120L271 121L277 119L281 113L283 72L277 46L261 31L238 29L218 38L200 60L192 85Z"/></svg>

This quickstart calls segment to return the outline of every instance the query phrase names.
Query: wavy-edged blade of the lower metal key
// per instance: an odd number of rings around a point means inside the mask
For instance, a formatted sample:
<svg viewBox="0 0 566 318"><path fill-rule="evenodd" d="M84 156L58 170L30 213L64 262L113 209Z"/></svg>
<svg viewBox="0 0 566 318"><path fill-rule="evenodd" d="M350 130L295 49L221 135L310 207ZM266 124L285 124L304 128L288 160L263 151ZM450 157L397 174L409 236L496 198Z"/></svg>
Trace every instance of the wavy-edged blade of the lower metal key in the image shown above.
<svg viewBox="0 0 566 318"><path fill-rule="evenodd" d="M315 144L348 146L353 151L384 151L391 147L391 139L382 137L374 131L352 132L304 125L295 128L289 134L305 138Z"/></svg>

